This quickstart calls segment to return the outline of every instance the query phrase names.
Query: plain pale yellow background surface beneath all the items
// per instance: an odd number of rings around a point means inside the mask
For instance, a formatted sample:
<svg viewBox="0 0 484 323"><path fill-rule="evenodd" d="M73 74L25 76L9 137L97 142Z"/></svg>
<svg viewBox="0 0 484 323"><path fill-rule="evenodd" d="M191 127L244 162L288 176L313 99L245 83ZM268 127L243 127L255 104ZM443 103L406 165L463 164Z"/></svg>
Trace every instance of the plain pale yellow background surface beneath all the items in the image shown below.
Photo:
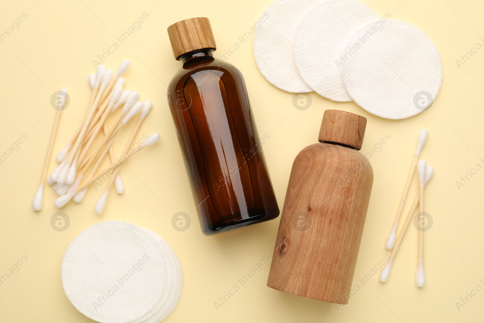
<svg viewBox="0 0 484 323"><path fill-rule="evenodd" d="M156 231L178 253L184 273L183 292L166 322L482 321L484 292L460 311L455 304L477 284L484 287L479 281L484 278L484 172L478 172L460 190L455 184L477 163L484 166L479 160L484 159L484 49L460 69L455 62L476 42L484 45L479 39L484 36L482 1L363 1L380 16L389 12L393 19L422 29L441 55L447 79L434 106L402 124L370 115L352 102L335 103L315 93L311 108L297 110L292 105L293 94L273 87L257 70L252 39L230 57L228 62L245 77L259 135L271 136L264 145L264 154L280 206L292 161L303 147L316 142L325 109L342 109L368 118L363 153L369 152L385 134L391 135L383 150L370 159L375 180L353 285L359 284L358 278L370 273L388 253L384 241L408 174L418 131L423 127L430 135L422 157L435 167L434 179L426 192L426 211L433 216L434 226L426 233L427 283L423 289L415 285L418 239L417 231L410 226L408 240L400 248L388 282L382 284L378 276L373 277L365 286L360 285L361 291L349 305L339 310L334 304L266 287L270 266L267 264L218 311L213 305L218 297L237 284L237 279L264 255L272 257L279 218L216 236L202 234L166 102L166 84L180 67L180 62L172 57L166 27L189 17L209 17L219 48L217 54L233 46L271 0L142 0L126 4L36 1L2 1L0 10L0 32L6 31L22 13L28 14L20 29L0 44L0 153L6 152L22 134L28 135L20 150L0 165L0 274L22 255L29 257L21 271L0 287L1 322L81 323L85 316L70 304L62 290L62 256L80 231L108 219ZM53 206L55 192L50 187L45 189L45 207L39 213L30 207L55 115L50 96L67 88L72 100L62 116L54 147L57 154L79 125L78 118L85 114L91 91L86 75L94 72L92 60L145 12L150 17L142 28L121 44L105 64L115 69L122 59L131 60L124 75L126 87L138 91L141 99L150 99L154 105L140 133L159 132L161 141L122 169L126 192L122 196L112 193L103 215L93 212L101 192L91 187L79 206L71 202L62 209L71 219L70 227L63 232L54 231L50 218L59 211ZM52 160L49 171L55 165ZM415 192L416 179L409 196L413 198ZM405 210L408 212L408 208ZM191 216L188 231L172 228L171 217L177 212Z"/></svg>

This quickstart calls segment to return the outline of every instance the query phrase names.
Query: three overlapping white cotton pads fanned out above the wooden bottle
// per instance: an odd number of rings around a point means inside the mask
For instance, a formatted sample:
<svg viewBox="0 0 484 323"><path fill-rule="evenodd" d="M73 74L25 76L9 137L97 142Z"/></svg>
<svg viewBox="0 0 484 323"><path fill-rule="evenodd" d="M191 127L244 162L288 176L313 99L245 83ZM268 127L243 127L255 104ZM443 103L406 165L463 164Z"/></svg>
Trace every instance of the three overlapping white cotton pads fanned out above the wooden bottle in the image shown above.
<svg viewBox="0 0 484 323"><path fill-rule="evenodd" d="M357 0L276 0L264 16L254 56L262 75L282 90L355 101L387 119L422 112L439 92L437 48L388 13L378 18Z"/></svg>

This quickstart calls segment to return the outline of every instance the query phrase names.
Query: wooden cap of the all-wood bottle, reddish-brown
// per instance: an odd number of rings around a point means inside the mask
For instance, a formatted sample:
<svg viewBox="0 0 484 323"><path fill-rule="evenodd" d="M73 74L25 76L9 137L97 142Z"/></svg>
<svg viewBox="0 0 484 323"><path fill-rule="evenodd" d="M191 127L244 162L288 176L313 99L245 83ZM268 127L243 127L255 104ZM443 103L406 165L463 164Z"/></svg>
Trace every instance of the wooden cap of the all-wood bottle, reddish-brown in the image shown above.
<svg viewBox="0 0 484 323"><path fill-rule="evenodd" d="M358 114L326 110L319 130L320 142L337 142L356 150L362 149L366 118Z"/></svg>

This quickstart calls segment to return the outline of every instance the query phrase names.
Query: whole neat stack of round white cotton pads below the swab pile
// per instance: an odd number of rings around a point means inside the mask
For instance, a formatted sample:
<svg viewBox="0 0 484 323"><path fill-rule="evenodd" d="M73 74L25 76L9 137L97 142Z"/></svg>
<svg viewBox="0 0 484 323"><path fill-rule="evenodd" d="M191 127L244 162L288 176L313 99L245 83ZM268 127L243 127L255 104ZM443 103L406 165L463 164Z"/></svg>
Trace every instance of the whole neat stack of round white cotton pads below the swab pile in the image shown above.
<svg viewBox="0 0 484 323"><path fill-rule="evenodd" d="M82 231L62 260L62 285L74 307L101 323L154 323L176 307L183 276L158 234L121 221Z"/></svg>

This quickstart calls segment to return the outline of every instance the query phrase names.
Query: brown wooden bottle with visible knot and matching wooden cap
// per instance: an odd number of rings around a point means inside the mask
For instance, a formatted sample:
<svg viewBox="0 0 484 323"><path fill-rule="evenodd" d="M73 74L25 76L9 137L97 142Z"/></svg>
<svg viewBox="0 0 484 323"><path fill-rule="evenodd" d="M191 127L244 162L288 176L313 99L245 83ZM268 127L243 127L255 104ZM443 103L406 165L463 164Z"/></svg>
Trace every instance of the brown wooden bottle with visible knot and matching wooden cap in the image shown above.
<svg viewBox="0 0 484 323"><path fill-rule="evenodd" d="M366 118L324 112L319 143L294 160L267 286L348 304L373 170L361 149Z"/></svg>

